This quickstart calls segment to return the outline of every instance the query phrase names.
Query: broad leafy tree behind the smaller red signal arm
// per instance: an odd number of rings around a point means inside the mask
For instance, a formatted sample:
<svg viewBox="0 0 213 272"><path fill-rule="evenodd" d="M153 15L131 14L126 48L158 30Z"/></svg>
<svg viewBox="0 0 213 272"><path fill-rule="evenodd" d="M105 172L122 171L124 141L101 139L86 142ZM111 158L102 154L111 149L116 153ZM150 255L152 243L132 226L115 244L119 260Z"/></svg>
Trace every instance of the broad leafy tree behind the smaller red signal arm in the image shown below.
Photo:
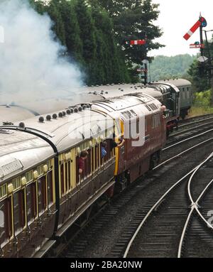
<svg viewBox="0 0 213 272"><path fill-rule="evenodd" d="M153 4L151 0L99 0L99 3L113 18L116 40L124 50L130 67L133 63L141 65L149 50L163 46L153 42L162 35L160 28L153 24L159 15L158 4ZM126 43L145 38L145 46Z"/></svg>

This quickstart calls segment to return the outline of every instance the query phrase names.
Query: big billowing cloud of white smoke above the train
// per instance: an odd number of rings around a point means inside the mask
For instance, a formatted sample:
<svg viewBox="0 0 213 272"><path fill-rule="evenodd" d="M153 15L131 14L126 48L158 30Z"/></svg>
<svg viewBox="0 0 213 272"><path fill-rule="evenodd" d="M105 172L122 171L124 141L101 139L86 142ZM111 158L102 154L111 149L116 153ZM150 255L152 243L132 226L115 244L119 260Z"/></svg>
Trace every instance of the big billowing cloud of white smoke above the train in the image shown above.
<svg viewBox="0 0 213 272"><path fill-rule="evenodd" d="M49 16L38 14L27 0L0 0L0 14L0 104L28 107L35 101L72 97L82 85L82 74L77 65L59 57L65 48L55 41Z"/></svg>

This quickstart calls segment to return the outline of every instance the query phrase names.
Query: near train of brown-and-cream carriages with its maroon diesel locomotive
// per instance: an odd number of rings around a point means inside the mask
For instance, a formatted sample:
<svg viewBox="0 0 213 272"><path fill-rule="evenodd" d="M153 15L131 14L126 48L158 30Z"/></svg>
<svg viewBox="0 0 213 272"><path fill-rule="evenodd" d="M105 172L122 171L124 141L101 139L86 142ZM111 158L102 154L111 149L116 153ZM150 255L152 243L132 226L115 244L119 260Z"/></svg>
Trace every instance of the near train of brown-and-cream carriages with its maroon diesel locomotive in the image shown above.
<svg viewBox="0 0 213 272"><path fill-rule="evenodd" d="M122 190L153 168L165 143L160 107L148 94L131 94L1 126L1 256L45 255L109 188ZM110 147L112 134L119 141L133 122L138 130L142 117L142 146L132 144L137 134L122 148ZM104 140L108 147L102 158ZM79 176L83 150L89 155Z"/></svg>

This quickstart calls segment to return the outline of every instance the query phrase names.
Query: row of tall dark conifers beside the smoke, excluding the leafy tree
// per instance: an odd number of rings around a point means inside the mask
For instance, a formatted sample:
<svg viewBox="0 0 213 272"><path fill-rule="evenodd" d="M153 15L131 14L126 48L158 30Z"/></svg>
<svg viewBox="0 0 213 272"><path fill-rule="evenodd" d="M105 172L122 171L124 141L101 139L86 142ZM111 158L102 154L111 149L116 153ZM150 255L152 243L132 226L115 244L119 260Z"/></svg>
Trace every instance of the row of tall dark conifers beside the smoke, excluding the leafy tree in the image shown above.
<svg viewBox="0 0 213 272"><path fill-rule="evenodd" d="M124 55L114 39L114 25L98 1L88 5L85 0L52 0L31 4L39 13L48 13L53 31L67 55L84 72L87 85L129 82L129 70Z"/></svg>

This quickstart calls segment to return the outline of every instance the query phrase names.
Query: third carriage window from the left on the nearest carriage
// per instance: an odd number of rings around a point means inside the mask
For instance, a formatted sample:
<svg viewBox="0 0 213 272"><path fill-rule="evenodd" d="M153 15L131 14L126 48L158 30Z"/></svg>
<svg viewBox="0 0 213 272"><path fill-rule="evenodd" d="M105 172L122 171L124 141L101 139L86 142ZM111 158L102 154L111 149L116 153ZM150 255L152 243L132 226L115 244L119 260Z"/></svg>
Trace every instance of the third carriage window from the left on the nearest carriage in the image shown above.
<svg viewBox="0 0 213 272"><path fill-rule="evenodd" d="M35 183L31 183L26 187L26 195L27 195L27 217L28 222L32 219L35 219L37 216L37 201L36 201L36 185Z"/></svg>

